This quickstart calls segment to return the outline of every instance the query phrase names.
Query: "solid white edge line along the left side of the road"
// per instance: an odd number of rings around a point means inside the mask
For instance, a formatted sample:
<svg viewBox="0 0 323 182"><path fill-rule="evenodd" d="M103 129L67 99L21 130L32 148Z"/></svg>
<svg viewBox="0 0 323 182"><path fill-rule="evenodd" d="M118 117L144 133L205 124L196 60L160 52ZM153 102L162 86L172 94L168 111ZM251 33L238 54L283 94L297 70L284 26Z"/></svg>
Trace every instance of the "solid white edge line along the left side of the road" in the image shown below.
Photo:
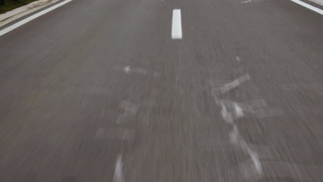
<svg viewBox="0 0 323 182"><path fill-rule="evenodd" d="M7 28L4 28L3 30L0 30L0 37L1 37L3 34L6 34L6 33L10 32L10 31L12 31L12 30L14 30L14 29L16 29L16 28L19 28L19 26L22 26L23 24L26 24L26 23L28 23L29 21L32 21L33 19L37 19L38 17L40 17L40 16L41 16L41 15L43 15L43 14L46 14L46 13L48 13L48 12L52 11L52 10L55 10L56 8L59 8L60 6L63 6L63 5L64 5L64 4L66 4L66 3L69 3L70 1L73 1L73 0L66 0L66 1L63 1L63 2L61 2L61 3L58 3L58 4L57 4L57 5L55 5L55 6L52 6L52 7L50 7L50 8L47 8L46 10L43 10L43 11L41 11L41 12L38 12L38 13L36 13L36 14L34 14L34 15L32 15L32 16L30 16L30 17L26 18L26 19L23 19L23 20L21 20L21 21L19 21L19 22L17 22L17 23L14 23L12 26L9 26L9 27L7 27Z"/></svg>

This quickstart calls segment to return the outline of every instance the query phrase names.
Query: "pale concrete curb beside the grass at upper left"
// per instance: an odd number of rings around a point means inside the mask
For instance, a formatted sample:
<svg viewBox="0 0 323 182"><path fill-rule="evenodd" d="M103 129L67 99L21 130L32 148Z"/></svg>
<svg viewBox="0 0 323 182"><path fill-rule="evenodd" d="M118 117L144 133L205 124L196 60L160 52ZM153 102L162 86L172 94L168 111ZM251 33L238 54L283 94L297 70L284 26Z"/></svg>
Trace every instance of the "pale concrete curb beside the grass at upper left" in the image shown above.
<svg viewBox="0 0 323 182"><path fill-rule="evenodd" d="M52 3L56 3L59 0L39 0L29 3L26 6L21 6L14 10L0 14L0 27L5 26L6 24L19 19L27 14L40 10L46 6L49 6Z"/></svg>

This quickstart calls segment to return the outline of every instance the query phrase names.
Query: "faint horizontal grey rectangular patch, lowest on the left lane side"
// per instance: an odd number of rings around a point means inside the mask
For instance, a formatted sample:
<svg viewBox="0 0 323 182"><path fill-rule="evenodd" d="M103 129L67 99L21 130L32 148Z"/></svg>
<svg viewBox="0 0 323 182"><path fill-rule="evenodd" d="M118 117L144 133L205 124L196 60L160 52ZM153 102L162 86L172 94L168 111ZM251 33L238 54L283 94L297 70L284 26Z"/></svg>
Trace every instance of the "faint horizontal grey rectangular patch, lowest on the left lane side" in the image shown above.
<svg viewBox="0 0 323 182"><path fill-rule="evenodd" d="M95 133L95 139L121 139L132 140L135 130L125 128L99 128Z"/></svg>

